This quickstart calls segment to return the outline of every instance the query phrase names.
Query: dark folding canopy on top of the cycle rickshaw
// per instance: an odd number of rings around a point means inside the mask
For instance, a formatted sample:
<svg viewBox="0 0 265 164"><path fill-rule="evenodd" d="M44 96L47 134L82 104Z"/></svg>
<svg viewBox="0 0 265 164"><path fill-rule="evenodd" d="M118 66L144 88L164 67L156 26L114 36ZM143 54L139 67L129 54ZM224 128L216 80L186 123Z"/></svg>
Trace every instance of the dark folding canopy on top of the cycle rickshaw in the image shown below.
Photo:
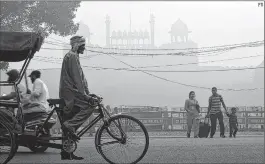
<svg viewBox="0 0 265 164"><path fill-rule="evenodd" d="M43 40L41 33L0 31L0 61L23 61L40 50Z"/></svg>

